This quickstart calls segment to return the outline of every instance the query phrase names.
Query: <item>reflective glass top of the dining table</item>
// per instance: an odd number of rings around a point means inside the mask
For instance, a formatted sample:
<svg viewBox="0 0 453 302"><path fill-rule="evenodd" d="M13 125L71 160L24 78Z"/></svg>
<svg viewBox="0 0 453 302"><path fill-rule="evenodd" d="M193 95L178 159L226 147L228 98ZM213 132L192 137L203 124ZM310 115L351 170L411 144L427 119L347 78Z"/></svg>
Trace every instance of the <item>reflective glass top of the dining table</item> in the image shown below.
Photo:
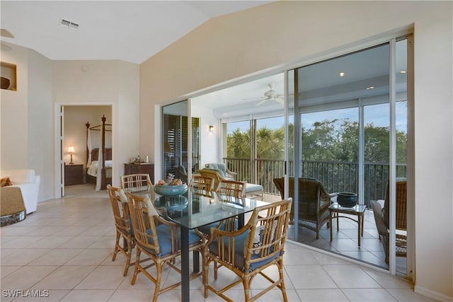
<svg viewBox="0 0 453 302"><path fill-rule="evenodd" d="M195 188L189 188L182 195L161 196L151 192L149 196L161 216L190 229L245 214L268 204L256 199L236 198Z"/></svg>

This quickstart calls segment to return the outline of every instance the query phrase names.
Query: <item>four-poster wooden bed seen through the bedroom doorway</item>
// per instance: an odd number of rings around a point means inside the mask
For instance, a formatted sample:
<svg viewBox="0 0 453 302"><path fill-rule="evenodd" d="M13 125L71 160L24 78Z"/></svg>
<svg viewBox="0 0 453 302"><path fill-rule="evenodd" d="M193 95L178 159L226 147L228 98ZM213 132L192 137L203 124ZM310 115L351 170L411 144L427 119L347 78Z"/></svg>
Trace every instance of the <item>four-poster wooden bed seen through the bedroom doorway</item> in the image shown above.
<svg viewBox="0 0 453 302"><path fill-rule="evenodd" d="M105 134L110 133L111 124L106 124L105 115L101 118L102 124L90 127L86 122L86 180L96 183L96 190L105 190L112 183L112 148L105 147ZM98 139L92 132L98 132ZM111 141L111 139L110 139ZM96 146L96 148L92 148ZM99 147L98 147L99 146Z"/></svg>

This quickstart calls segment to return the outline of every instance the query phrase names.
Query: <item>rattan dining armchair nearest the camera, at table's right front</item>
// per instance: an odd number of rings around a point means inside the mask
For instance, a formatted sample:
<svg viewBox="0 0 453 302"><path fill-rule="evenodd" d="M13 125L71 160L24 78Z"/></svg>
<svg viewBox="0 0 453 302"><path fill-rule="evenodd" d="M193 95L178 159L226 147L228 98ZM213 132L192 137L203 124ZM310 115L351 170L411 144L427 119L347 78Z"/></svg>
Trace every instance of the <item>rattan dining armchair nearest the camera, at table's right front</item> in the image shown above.
<svg viewBox="0 0 453 302"><path fill-rule="evenodd" d="M208 291L213 291L214 294L225 300L233 301L224 292L236 284L242 283L244 301L256 301L275 287L282 291L283 301L288 300L283 278L283 254L291 206L292 199L289 198L263 207L256 207L246 226L237 231L212 229L212 236L205 245L205 258L203 258L205 298L207 298ZM208 282L210 262L214 262L219 268L224 267L231 270L238 279L222 289L216 289ZM273 265L276 265L278 269L277 280L271 279L268 274L263 272ZM251 296L251 281L258 274L271 284L258 294ZM215 274L214 279L217 279Z"/></svg>

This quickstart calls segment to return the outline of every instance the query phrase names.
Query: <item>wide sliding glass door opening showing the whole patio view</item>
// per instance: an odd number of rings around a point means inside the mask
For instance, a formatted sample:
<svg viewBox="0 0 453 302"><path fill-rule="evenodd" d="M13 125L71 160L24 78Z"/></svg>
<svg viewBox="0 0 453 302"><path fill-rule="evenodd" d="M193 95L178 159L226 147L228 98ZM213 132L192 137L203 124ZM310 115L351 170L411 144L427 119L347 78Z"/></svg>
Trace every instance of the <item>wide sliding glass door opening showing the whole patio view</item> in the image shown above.
<svg viewBox="0 0 453 302"><path fill-rule="evenodd" d="M236 180L262 185L265 201L294 199L290 240L392 274L411 274L410 39L199 98L222 125L219 156L212 154L216 132L205 134L205 154L236 172ZM222 105L215 108L218 100ZM314 184L318 191L311 194ZM326 197L338 192L355 194L359 207L338 214L331 207L336 197Z"/></svg>

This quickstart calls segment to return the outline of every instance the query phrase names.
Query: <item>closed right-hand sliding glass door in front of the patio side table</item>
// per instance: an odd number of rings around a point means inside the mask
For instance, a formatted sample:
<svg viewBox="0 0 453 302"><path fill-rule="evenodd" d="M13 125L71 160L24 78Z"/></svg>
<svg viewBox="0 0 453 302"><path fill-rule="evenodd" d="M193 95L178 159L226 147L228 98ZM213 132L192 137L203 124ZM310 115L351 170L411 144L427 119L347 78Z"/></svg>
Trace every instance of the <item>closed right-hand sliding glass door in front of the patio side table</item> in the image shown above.
<svg viewBox="0 0 453 302"><path fill-rule="evenodd" d="M289 160L289 177L299 179L294 181L294 240L387 269L391 255L396 255L397 270L403 273L408 178L406 52L406 40L393 40L293 69L288 83L294 90L294 158ZM310 206L316 210L307 210L305 186L313 181L321 182L321 191L357 194L357 204L366 210L354 208L338 214L323 204L322 197ZM374 213L373 204L384 211ZM334 217L331 222L330 215ZM336 215L343 217L335 219ZM362 215L363 226L359 223ZM377 228L379 219L384 225L381 229ZM360 238L357 228L362 228Z"/></svg>

